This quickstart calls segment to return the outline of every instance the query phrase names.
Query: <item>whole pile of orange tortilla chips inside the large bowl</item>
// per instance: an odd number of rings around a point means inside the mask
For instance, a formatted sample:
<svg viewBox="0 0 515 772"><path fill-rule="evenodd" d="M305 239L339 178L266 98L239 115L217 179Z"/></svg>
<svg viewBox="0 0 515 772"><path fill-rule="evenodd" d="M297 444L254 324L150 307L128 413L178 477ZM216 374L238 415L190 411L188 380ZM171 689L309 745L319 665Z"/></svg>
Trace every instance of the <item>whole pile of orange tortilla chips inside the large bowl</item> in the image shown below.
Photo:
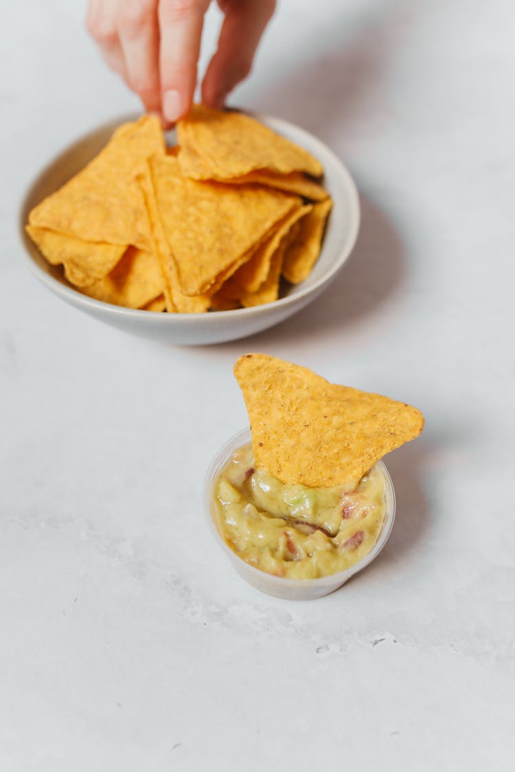
<svg viewBox="0 0 515 772"><path fill-rule="evenodd" d="M81 292L199 313L277 300L320 252L332 202L312 155L241 113L196 105L167 148L158 118L109 144L29 215L27 232Z"/></svg>

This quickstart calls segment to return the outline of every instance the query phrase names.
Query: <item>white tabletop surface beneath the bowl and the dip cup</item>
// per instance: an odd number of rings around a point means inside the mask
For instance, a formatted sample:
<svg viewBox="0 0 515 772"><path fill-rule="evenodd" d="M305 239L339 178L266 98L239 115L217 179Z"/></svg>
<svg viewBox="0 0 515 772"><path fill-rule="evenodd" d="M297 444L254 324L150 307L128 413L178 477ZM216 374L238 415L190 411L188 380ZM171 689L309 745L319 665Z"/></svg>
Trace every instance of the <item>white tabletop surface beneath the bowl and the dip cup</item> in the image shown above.
<svg viewBox="0 0 515 772"><path fill-rule="evenodd" d="M334 148L361 235L300 316L204 348L105 327L26 269L36 171L137 100L83 3L2 19L2 772L515 768L515 7L280 6L232 103ZM252 590L202 519L248 350L425 413L387 459L388 547L320 601Z"/></svg>

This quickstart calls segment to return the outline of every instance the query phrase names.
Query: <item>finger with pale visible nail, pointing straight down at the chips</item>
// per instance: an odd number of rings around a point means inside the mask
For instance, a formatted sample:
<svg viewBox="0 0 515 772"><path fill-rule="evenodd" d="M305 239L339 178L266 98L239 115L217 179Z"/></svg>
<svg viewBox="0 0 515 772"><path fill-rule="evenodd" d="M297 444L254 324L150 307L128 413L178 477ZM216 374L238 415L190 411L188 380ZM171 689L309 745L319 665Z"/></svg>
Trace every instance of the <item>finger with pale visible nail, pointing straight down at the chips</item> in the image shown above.
<svg viewBox="0 0 515 772"><path fill-rule="evenodd" d="M162 109L171 123L188 112L193 100L208 5L209 0L161 0L159 3Z"/></svg>

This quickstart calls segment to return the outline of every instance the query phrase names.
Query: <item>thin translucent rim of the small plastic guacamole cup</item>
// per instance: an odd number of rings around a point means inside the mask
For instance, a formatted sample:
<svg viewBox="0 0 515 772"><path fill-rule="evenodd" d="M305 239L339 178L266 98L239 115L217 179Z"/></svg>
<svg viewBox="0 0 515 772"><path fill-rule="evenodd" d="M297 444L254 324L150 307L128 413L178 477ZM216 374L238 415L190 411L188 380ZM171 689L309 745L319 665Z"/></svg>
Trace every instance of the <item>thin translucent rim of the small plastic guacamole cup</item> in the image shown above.
<svg viewBox="0 0 515 772"><path fill-rule="evenodd" d="M202 501L203 501L203 510L206 520L208 520L208 527L211 530L213 536L215 537L215 541L219 544L219 547L222 548L222 550L225 552L226 556L229 557L229 560L232 562L235 562L237 560L240 560L242 564L245 565L246 570L248 569L248 572L251 576L256 577L256 582L259 583L260 581L263 581L263 575L267 577L267 581L269 581L272 584L276 584L278 588L283 589L298 589L302 587L317 587L320 589L323 588L329 588L332 587L334 590L337 590L338 587L341 587L342 584L345 584L346 581L348 581L354 574L357 574L359 571L362 571L365 567L368 566L374 560L376 557L378 557L378 554L381 552L383 547L385 547L385 544L387 543L390 535L391 530L393 529L394 521L395 521L395 489L393 486L393 482L391 480L390 472L388 472L388 469L385 465L385 462L379 460L377 465L381 469L381 472L385 478L385 498L386 498L386 513L385 513L385 520L383 522L383 526L381 528L381 533L379 534L378 540L374 544L374 547L368 552L364 557L361 558L361 560L358 560L357 563L355 563L350 568L344 569L344 571L337 571L336 574L327 574L327 576L324 577L317 577L317 578L309 578L309 579L292 579L289 577L278 577L274 574L269 574L267 571L261 571L259 568L256 568L255 566L252 566L251 564L247 563L246 560L243 560L242 557L239 557L239 554L235 553L227 543L225 543L225 540L222 538L221 533L219 532L218 528L215 525L215 521L213 519L212 514L212 508L213 508L213 491L214 491L214 484L215 479L218 477L219 473L222 471L225 464L229 461L230 454L233 450L240 447L241 445L245 445L247 442L250 442L252 439L252 435L250 433L250 427L246 427L244 429L241 429L239 432L236 432L235 435L232 435L231 438L225 442L222 447L219 449L219 451L215 454L213 457L211 463L208 466L207 472L205 473L205 479L204 479L204 487L202 491ZM251 583L252 584L252 583Z"/></svg>

